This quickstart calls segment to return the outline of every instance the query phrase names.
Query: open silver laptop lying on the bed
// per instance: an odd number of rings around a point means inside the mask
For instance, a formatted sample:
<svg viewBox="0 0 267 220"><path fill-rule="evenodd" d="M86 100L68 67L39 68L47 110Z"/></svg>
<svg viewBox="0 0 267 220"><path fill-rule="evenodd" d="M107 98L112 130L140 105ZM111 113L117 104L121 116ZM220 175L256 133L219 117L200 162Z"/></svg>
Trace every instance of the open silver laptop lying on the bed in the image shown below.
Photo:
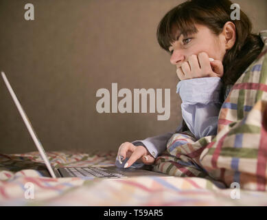
<svg viewBox="0 0 267 220"><path fill-rule="evenodd" d="M16 94L14 93L8 78L6 78L5 73L1 72L5 85L8 87L8 91L12 96L13 101L16 104L19 113L29 131L32 140L34 140L34 144L37 147L40 156L45 162L45 166L48 170L48 176L53 178L57 177L101 177L108 179L119 179L119 178L129 178L129 177L138 177L138 176L156 176L156 177L172 177L170 175L165 175L164 173L153 172L149 170L149 166L144 166L145 168L118 168L117 166L97 166L97 167L62 167L55 168L51 166L47 154L45 153L45 149L43 148L40 140L38 139L36 132L32 124L30 123L29 118L25 111L23 110L19 100L16 98ZM150 166L151 167L151 166Z"/></svg>

